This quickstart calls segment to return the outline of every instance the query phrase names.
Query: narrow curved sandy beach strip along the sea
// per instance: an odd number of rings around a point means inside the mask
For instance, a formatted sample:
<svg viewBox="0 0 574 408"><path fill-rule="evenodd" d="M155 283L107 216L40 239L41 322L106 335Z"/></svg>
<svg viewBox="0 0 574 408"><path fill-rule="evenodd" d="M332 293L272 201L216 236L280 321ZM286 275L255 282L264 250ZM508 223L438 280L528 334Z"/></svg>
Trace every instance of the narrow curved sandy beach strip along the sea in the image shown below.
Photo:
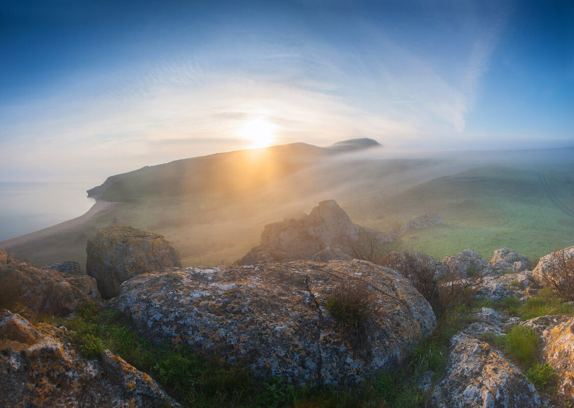
<svg viewBox="0 0 574 408"><path fill-rule="evenodd" d="M72 230L73 228L82 226L90 220L94 219L98 215L102 215L111 209L117 207L118 203L112 203L110 201L96 201L94 205L88 211L80 215L79 217L72 218L61 222L59 224L53 225L51 227L42 228L41 230L30 232L29 234L24 234L16 236L15 238L6 239L0 242L0 248L3 250L10 250L13 247L21 246L34 242L39 239L44 239L48 236L58 234L59 232Z"/></svg>

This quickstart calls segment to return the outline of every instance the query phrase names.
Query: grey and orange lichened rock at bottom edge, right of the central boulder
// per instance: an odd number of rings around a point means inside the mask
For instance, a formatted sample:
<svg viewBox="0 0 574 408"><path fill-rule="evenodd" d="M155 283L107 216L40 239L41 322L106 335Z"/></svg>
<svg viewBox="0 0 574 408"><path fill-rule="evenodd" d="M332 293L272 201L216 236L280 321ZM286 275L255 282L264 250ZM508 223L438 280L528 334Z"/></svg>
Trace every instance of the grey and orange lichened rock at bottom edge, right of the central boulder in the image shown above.
<svg viewBox="0 0 574 408"><path fill-rule="evenodd" d="M483 341L459 333L449 344L443 378L430 395L432 408L541 406L533 384Z"/></svg>

